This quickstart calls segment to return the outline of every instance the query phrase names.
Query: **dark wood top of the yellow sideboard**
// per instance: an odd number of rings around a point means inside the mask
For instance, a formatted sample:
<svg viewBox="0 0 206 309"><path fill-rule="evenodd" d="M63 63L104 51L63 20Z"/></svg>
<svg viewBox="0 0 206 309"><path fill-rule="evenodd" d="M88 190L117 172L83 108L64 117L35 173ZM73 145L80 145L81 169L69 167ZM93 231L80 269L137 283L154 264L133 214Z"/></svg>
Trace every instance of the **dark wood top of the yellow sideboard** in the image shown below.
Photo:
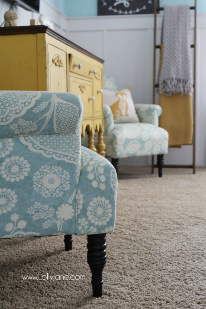
<svg viewBox="0 0 206 309"><path fill-rule="evenodd" d="M64 36L58 32L48 28L47 26L19 26L19 27L1 27L0 36L16 35L16 34L36 34L36 33L47 33L50 36L53 36L55 39L60 40L61 42L67 44L68 46L84 53L85 55L104 63L104 60L97 57L93 53L90 53L88 50L82 48L81 46L75 44L74 42L66 39Z"/></svg>

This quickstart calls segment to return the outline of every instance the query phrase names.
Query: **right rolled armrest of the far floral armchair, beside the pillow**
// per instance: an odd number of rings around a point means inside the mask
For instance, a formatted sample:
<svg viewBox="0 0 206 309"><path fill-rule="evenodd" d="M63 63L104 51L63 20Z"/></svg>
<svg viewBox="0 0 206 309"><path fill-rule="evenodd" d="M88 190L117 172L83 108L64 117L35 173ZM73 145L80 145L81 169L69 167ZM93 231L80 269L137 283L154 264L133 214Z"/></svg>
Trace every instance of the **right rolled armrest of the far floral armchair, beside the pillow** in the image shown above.
<svg viewBox="0 0 206 309"><path fill-rule="evenodd" d="M155 104L135 104L135 110L140 122L150 123L158 127L162 108Z"/></svg>

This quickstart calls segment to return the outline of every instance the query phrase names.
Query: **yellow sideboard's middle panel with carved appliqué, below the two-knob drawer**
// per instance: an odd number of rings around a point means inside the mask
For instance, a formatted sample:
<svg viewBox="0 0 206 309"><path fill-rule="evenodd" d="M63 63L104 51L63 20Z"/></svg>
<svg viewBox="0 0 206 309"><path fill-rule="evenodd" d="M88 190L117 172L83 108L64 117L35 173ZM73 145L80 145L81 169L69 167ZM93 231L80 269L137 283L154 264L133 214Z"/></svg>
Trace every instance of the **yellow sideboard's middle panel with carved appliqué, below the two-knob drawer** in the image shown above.
<svg viewBox="0 0 206 309"><path fill-rule="evenodd" d="M83 118L93 117L94 97L92 96L92 81L69 76L69 89L70 92L80 95L82 99L84 105Z"/></svg>

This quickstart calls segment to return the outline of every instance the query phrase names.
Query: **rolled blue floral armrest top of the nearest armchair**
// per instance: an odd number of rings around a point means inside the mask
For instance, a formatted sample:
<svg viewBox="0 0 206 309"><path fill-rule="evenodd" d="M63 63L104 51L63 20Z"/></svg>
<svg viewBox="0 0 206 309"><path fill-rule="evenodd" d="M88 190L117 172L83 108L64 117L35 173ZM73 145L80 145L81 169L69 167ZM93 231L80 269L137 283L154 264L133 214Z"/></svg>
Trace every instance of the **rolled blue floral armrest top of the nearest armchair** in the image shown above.
<svg viewBox="0 0 206 309"><path fill-rule="evenodd" d="M78 95L47 91L0 91L0 138L80 133ZM80 138L80 137L79 137Z"/></svg>

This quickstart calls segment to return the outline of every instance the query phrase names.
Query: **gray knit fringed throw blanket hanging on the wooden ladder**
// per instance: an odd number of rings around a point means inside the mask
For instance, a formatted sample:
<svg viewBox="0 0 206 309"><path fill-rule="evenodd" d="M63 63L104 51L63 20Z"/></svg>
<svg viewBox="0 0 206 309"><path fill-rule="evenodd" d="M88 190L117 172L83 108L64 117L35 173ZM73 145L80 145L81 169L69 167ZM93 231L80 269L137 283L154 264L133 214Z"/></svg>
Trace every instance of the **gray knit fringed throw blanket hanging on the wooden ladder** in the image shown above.
<svg viewBox="0 0 206 309"><path fill-rule="evenodd" d="M162 29L163 57L159 93L192 95L191 24L188 5L165 5Z"/></svg>

